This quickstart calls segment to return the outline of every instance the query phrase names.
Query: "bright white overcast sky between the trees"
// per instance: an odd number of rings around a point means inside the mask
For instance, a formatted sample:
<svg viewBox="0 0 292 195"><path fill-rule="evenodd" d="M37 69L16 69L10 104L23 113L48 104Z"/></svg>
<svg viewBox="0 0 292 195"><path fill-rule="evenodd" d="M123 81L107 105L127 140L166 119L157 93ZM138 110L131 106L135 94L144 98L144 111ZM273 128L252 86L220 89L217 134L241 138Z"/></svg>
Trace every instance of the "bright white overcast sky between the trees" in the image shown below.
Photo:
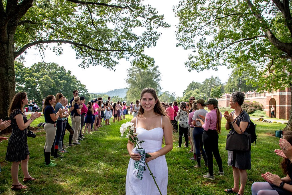
<svg viewBox="0 0 292 195"><path fill-rule="evenodd" d="M188 55L191 54L191 51L175 46L178 43L175 39L178 18L175 17L172 8L178 4L178 0L150 0L146 2L155 7L160 15L164 15L165 21L171 25L170 28L158 29L161 32L161 37L156 47L145 49L145 54L153 57L155 65L159 66L162 91L174 92L176 96L183 96L183 91L192 81L202 82L212 75L214 77L218 76L222 83L227 82L231 70L226 67L218 67L218 71L204 70L200 73L197 73L196 70L189 72L185 67L184 62L188 60ZM70 45L64 44L62 48L63 55L61 56L57 56L50 50L45 51L45 62L57 63L60 66L64 66L67 70L71 70L72 74L86 85L88 92L108 92L127 87L125 78L127 76L127 69L130 68L130 62L126 60L119 61L119 65L115 67L116 71L111 71L101 66L82 69L78 67L81 60L76 59L75 51L70 48ZM42 58L36 49L30 48L27 49L25 61L25 66L28 67L42 61ZM89 79L88 74L96 71L100 73L97 79Z"/></svg>

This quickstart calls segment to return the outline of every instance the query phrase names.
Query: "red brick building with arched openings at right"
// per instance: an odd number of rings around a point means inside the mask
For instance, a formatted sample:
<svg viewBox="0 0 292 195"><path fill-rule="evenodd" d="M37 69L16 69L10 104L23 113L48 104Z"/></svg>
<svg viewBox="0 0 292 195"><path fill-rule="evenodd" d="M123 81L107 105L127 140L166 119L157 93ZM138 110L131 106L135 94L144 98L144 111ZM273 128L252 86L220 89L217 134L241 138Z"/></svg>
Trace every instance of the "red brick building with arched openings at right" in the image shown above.
<svg viewBox="0 0 292 195"><path fill-rule="evenodd" d="M218 100L218 106L229 107L230 95L224 95ZM277 91L246 94L245 101L257 101L264 106L268 116L271 116L272 105L275 106L276 118L289 120L291 109L291 89L286 88L284 90L278 89Z"/></svg>

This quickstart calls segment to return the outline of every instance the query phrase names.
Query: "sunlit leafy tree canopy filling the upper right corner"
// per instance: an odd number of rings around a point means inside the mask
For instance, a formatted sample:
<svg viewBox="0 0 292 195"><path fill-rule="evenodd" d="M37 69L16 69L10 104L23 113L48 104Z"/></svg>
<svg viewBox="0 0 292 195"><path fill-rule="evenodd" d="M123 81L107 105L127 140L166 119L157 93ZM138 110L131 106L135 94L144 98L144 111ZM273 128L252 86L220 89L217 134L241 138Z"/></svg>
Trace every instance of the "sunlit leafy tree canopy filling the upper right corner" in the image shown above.
<svg viewBox="0 0 292 195"><path fill-rule="evenodd" d="M292 16L289 0L182 0L177 46L192 49L190 70L220 65L250 70L258 90L292 87ZM292 110L286 126L292 130ZM285 129L285 130L286 130Z"/></svg>

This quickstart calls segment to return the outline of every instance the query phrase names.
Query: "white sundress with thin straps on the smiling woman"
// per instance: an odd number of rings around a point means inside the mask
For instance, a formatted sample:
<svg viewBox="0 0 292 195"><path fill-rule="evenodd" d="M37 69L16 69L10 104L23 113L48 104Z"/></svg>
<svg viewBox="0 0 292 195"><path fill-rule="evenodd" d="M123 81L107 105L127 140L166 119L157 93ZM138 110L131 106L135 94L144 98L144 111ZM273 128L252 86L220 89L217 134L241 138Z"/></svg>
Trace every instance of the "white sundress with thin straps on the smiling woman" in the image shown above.
<svg viewBox="0 0 292 195"><path fill-rule="evenodd" d="M156 127L151 130L146 130L142 127L137 127L137 118L136 118L136 132L138 133L137 137L139 141L144 140L142 143L142 148L145 149L146 153L156 152L162 147L162 138L164 131L162 129L162 116L161 116L161 127ZM135 148L133 149L134 153L137 153ZM143 179L140 180L136 177L134 173L134 163L135 161L130 158L126 176L126 194L127 195L155 195L159 194L159 191L154 183L152 176L145 164L146 171L143 174ZM157 185L161 191L161 194L167 194L167 182L168 182L168 168L165 159L165 155L159 156L156 159L148 163L151 172L153 173Z"/></svg>

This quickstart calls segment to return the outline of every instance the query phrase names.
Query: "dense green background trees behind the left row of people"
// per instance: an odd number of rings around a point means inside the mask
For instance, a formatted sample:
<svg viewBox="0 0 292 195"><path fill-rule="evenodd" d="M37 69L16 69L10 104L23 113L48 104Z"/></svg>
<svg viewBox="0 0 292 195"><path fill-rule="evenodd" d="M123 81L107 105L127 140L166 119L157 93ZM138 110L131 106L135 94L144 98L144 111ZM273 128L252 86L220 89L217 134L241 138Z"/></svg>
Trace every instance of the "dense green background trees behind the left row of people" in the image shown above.
<svg viewBox="0 0 292 195"><path fill-rule="evenodd" d="M89 100L86 86L63 66L39 62L27 68L23 63L15 62L15 91L27 92L30 100L35 99L37 103L41 103L46 96L59 92L71 99L74 89L78 90L79 96Z"/></svg>

